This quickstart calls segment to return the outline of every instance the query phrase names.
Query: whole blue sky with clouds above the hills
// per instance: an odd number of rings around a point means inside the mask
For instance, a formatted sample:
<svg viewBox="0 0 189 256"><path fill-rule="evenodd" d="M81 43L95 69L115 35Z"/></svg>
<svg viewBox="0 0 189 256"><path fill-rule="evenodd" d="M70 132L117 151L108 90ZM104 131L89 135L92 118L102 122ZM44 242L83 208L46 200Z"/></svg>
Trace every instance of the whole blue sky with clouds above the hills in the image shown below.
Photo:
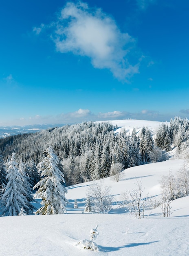
<svg viewBox="0 0 189 256"><path fill-rule="evenodd" d="M189 118L187 0L2 0L0 126Z"/></svg>

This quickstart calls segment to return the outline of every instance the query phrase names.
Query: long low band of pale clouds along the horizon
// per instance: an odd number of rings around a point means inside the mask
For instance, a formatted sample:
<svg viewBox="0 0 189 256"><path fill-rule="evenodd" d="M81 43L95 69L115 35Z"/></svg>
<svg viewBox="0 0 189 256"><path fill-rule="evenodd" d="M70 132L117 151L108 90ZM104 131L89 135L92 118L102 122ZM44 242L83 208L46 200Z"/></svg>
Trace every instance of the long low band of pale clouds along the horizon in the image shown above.
<svg viewBox="0 0 189 256"><path fill-rule="evenodd" d="M186 114L189 113L189 110L181 110ZM74 112L62 113L57 116L47 115L35 115L31 117L22 117L12 121L2 121L0 122L3 126L9 125L29 125L29 124L79 124L83 121L107 121L107 120L123 120L123 119L143 119L151 121L166 121L170 120L172 117L171 114L161 114L153 110L142 110L140 112L127 112L127 111L112 111L105 113L96 113L93 114L88 109L79 109Z"/></svg>

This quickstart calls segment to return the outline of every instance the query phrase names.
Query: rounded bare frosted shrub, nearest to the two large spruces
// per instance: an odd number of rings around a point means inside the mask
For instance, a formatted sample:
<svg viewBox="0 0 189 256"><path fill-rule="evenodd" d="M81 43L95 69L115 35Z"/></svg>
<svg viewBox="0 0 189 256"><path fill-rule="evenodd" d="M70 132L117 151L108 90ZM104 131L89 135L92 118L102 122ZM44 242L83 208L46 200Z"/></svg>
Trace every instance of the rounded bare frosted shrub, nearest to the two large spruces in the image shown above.
<svg viewBox="0 0 189 256"><path fill-rule="evenodd" d="M92 209L97 213L107 213L112 209L112 194L110 186L103 186L100 180L93 183L88 189L88 194L92 201Z"/></svg>

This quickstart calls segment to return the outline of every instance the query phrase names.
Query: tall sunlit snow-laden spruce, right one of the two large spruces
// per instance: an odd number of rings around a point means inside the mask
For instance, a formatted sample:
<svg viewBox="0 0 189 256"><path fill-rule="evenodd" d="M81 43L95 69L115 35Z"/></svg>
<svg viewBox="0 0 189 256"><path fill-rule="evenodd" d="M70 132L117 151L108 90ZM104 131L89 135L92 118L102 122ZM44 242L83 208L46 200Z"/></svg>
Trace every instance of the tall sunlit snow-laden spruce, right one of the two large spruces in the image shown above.
<svg viewBox="0 0 189 256"><path fill-rule="evenodd" d="M53 153L53 148L47 148L46 157L37 165L41 173L41 180L33 188L39 188L34 198L42 198L42 207L35 214L66 213L68 200L65 198L65 193L67 193L67 190L62 184L64 174L57 167L58 164L59 160L57 155Z"/></svg>

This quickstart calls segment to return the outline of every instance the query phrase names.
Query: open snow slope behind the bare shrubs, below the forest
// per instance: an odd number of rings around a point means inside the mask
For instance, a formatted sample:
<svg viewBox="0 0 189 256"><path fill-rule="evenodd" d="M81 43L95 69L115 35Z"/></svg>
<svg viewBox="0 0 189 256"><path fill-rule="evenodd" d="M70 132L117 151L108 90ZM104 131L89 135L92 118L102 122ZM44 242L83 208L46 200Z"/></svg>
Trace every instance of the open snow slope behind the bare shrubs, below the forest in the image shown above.
<svg viewBox="0 0 189 256"><path fill-rule="evenodd" d="M111 186L112 195L114 196L112 213L122 213L125 210L120 209L119 202L121 199L121 194L125 190L137 189L136 182L137 180L142 182L143 197L146 197L147 194L149 197L158 196L161 193L160 180L163 175L169 175L171 172L176 176L177 171L182 168L184 164L182 159L172 159L165 162L158 162L153 164L144 164L140 166L134 166L127 168L121 173L121 178L119 182L116 182L112 177L105 178L103 180L97 180L95 183L103 182L103 187ZM94 182L86 182L82 184L76 184L68 187L68 194L66 198L71 202L68 206L68 213L81 213L84 211L84 200L88 194L88 189L92 186ZM73 204L75 199L78 201L78 208L73 209ZM177 209L177 204L175 201L171 204L171 216L177 217L178 212L182 216L189 217L189 196L178 199L179 205L183 203L180 210ZM187 203L186 203L187 202ZM120 210L119 210L120 209ZM154 213L150 214L152 210L146 213L150 218L154 216ZM156 216L161 216L161 209L156 209Z"/></svg>

